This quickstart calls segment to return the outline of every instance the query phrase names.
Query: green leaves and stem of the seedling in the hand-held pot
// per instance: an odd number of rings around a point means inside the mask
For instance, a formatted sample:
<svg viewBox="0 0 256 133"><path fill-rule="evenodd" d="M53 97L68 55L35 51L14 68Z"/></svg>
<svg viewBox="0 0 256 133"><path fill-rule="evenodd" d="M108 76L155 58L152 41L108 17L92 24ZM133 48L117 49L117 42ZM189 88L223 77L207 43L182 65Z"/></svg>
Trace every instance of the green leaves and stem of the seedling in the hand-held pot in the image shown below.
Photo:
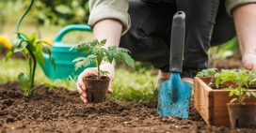
<svg viewBox="0 0 256 133"><path fill-rule="evenodd" d="M71 50L77 49L77 52L85 52L84 57L78 57L72 62L75 62L75 69L81 66L95 65L98 69L97 80L100 80L101 76L104 76L108 71L101 70L100 65L103 62L113 63L113 61L123 61L128 66L135 67L135 61L130 56L130 52L127 49L119 48L117 46L108 46L104 48L106 39L99 41L94 39L88 42L80 42L76 46L72 47Z"/></svg>

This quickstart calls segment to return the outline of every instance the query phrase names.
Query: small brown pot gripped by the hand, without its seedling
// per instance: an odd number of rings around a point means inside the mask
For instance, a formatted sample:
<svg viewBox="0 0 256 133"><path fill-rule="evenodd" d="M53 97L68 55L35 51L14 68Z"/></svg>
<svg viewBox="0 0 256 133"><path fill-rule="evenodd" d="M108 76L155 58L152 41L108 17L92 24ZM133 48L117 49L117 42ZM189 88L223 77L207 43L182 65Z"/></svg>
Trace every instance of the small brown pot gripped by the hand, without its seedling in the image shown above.
<svg viewBox="0 0 256 133"><path fill-rule="evenodd" d="M90 76L84 79L88 89L89 103L100 103L106 100L109 81L108 77L102 77L100 80L97 80L95 77Z"/></svg>

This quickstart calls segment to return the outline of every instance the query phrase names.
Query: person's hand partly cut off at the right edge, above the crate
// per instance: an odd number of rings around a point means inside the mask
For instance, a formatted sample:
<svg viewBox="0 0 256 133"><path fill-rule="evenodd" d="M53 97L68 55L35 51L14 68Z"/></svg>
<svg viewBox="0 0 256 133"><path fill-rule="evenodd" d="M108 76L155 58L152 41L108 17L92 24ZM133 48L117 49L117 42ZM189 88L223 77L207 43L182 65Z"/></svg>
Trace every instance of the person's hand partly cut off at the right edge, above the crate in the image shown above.
<svg viewBox="0 0 256 133"><path fill-rule="evenodd" d="M248 70L256 68L256 53L245 53L243 55L242 63Z"/></svg>

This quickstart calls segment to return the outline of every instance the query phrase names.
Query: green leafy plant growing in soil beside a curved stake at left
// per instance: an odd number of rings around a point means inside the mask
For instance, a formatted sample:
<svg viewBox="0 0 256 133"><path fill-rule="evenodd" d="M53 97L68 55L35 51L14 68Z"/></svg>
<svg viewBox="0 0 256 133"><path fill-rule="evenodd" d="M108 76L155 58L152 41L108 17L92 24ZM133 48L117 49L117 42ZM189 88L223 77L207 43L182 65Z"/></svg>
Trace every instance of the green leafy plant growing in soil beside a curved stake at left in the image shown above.
<svg viewBox="0 0 256 133"><path fill-rule="evenodd" d="M34 81L37 61L40 62L40 64L45 65L42 52L49 54L53 65L55 65L55 61L52 57L50 48L46 45L47 42L38 39L36 34L28 37L23 33L17 33L17 36L18 38L13 40L12 48L7 53L6 59L8 60L8 58L15 52L24 52L27 59L28 71L20 73L18 76L18 81L21 85L24 96L31 96L36 89L34 86Z"/></svg>

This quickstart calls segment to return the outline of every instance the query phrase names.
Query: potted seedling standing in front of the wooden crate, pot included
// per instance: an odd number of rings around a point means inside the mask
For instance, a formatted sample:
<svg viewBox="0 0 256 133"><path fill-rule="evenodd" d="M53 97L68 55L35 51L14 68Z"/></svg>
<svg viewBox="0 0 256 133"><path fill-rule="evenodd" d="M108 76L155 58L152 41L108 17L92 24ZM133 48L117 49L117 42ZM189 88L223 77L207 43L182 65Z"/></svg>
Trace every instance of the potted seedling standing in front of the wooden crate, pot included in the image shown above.
<svg viewBox="0 0 256 133"><path fill-rule="evenodd" d="M227 104L232 127L256 126L256 104L246 103L250 97L256 97L255 92L248 91L250 72L246 69L239 69L237 72L230 71L224 81L233 81L234 86L228 90L232 100ZM234 96L234 97L233 97Z"/></svg>

